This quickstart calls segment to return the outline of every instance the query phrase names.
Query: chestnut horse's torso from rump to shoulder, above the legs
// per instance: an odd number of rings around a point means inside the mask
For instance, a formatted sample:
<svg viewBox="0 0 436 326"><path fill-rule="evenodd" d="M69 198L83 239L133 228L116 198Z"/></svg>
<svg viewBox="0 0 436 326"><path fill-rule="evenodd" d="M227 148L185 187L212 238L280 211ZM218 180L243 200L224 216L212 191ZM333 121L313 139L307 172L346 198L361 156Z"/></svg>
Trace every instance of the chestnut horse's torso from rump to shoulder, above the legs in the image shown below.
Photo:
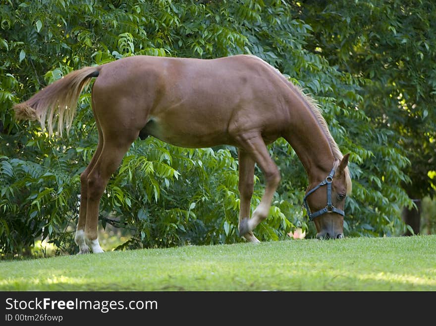
<svg viewBox="0 0 436 326"><path fill-rule="evenodd" d="M97 115L112 113L112 128L121 120L143 136L208 147L234 144L235 134L250 130L272 129L272 137L279 136L286 87L274 68L253 56L135 56L103 65L93 98L105 107Z"/></svg>

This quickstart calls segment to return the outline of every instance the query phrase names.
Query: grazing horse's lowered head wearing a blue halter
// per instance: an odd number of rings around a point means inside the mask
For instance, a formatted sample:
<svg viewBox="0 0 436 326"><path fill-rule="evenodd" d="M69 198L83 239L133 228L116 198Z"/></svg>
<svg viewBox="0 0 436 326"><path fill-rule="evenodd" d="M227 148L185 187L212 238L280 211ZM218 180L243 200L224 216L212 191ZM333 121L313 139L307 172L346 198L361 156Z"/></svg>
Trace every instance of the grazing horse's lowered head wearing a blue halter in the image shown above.
<svg viewBox="0 0 436 326"><path fill-rule="evenodd" d="M351 193L348 158L349 154L336 161L330 174L321 183L310 185L304 196L318 239L343 238L345 197Z"/></svg>

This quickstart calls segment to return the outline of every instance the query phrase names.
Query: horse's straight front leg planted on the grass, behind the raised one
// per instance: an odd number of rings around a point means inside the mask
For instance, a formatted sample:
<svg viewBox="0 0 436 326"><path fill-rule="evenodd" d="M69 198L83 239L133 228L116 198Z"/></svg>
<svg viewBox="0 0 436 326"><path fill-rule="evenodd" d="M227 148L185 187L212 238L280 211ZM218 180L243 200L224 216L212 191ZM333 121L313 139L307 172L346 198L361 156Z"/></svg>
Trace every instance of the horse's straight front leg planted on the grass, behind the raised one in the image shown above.
<svg viewBox="0 0 436 326"><path fill-rule="evenodd" d="M240 207L239 207L239 224L238 229L240 229L241 222L244 219L250 218L250 201L253 196L254 187L254 161L250 154L245 152L243 149L239 149L238 152L239 161L239 196L240 196ZM243 223L243 222L242 222ZM244 234L244 238L249 242L258 243L260 242L253 234L253 231L249 231Z"/></svg>

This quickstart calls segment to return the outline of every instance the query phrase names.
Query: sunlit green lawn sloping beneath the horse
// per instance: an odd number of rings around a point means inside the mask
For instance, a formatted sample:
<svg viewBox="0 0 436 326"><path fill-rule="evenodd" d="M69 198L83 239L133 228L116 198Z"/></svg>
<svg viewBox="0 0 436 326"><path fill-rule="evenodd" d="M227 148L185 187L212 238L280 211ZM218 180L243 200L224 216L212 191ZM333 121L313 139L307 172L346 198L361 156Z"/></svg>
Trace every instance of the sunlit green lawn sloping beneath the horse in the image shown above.
<svg viewBox="0 0 436 326"><path fill-rule="evenodd" d="M435 291L436 236L187 246L0 262L2 291Z"/></svg>

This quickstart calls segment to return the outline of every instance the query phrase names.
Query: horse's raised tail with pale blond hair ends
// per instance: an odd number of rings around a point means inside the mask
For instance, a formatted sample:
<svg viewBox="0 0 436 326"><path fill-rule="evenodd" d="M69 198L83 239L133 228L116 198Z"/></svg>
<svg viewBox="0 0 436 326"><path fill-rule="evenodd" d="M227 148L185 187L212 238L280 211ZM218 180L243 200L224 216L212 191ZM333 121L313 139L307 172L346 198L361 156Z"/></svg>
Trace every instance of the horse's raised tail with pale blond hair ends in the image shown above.
<svg viewBox="0 0 436 326"><path fill-rule="evenodd" d="M89 84L91 77L97 77L99 72L100 67L95 66L68 73L27 101L16 104L13 107L15 118L17 120L38 120L43 130L47 120L49 133L53 134L53 123L56 120L57 111L57 131L62 135L63 125L68 130L73 123L77 100L82 89Z"/></svg>

